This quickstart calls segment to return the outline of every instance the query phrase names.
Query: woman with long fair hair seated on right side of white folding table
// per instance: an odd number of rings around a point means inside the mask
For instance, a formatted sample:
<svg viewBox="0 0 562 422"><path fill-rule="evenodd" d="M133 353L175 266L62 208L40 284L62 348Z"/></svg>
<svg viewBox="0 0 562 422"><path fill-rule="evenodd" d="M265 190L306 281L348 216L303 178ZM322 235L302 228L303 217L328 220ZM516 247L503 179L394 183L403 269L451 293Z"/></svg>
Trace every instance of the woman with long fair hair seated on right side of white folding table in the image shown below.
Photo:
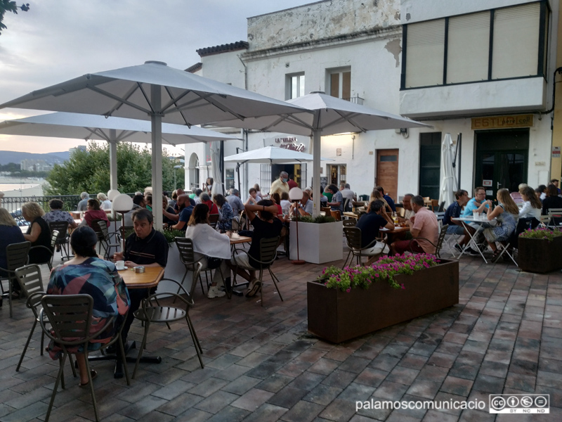
<svg viewBox="0 0 562 422"><path fill-rule="evenodd" d="M488 203L490 208L492 207L492 201L485 201ZM496 242L507 242L509 237L516 229L517 220L519 218L519 208L514 203L513 198L509 196L509 191L507 189L499 189L497 191L497 207L493 211L488 212L488 221L497 218L499 225L495 227L488 227L484 229L484 236L488 245L492 248L494 255L492 260L495 260L499 255L499 250L497 249ZM504 255L509 260L509 257Z"/></svg>

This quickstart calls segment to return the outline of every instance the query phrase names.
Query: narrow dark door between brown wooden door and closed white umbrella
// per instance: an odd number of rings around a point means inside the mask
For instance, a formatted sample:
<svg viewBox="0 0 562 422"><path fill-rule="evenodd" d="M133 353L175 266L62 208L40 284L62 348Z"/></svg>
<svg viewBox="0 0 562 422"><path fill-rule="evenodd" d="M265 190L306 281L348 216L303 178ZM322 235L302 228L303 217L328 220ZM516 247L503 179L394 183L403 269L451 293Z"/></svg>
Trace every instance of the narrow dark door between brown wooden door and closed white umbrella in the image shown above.
<svg viewBox="0 0 562 422"><path fill-rule="evenodd" d="M441 132L419 135L419 195L439 198Z"/></svg>

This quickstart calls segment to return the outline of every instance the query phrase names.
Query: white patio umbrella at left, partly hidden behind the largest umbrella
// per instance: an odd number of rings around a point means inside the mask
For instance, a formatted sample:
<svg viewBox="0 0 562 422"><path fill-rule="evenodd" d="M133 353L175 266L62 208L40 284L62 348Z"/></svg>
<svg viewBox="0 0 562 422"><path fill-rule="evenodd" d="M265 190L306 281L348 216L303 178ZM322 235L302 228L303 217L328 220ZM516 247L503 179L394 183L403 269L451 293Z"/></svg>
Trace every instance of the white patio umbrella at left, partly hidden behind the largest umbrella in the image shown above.
<svg viewBox="0 0 562 422"><path fill-rule="evenodd" d="M92 139L110 144L110 188L117 190L117 142L152 142L150 122L79 113L48 113L0 123L0 135ZM202 127L162 123L162 143L209 142L238 139Z"/></svg>

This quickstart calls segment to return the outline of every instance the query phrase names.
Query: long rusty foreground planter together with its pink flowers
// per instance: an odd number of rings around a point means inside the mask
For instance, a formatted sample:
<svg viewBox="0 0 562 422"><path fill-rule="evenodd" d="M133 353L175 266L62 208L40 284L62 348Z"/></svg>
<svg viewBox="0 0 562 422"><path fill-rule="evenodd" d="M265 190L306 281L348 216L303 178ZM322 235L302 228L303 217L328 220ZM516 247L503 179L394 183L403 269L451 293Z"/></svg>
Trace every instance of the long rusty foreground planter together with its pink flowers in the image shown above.
<svg viewBox="0 0 562 422"><path fill-rule="evenodd" d="M459 262L429 254L328 267L307 285L308 331L341 343L459 303Z"/></svg>

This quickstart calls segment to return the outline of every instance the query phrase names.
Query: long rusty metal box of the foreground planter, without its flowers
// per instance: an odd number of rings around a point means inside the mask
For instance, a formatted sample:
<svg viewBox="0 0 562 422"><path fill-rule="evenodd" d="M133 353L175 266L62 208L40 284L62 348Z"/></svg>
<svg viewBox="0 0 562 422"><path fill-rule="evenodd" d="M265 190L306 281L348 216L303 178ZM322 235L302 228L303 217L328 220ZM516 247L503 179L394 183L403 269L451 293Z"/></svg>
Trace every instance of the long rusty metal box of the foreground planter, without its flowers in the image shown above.
<svg viewBox="0 0 562 422"><path fill-rule="evenodd" d="M459 303L459 262L441 260L411 276L400 274L395 289L381 281L349 293L309 281L308 331L332 343L372 333Z"/></svg>

